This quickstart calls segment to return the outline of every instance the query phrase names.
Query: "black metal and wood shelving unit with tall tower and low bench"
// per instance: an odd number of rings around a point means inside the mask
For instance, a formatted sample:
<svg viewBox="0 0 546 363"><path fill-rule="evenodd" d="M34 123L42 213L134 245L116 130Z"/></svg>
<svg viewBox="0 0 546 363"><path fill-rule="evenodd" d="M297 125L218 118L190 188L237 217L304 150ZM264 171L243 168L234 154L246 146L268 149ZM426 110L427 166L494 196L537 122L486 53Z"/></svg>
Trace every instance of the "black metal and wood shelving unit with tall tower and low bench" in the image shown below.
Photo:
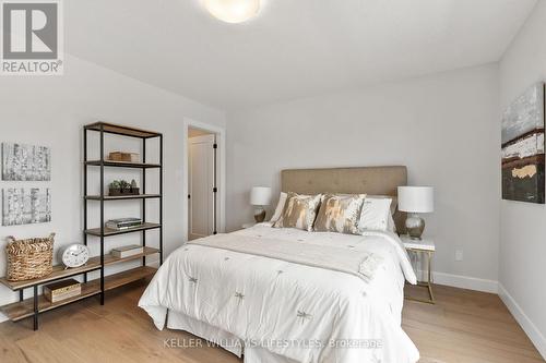
<svg viewBox="0 0 546 363"><path fill-rule="evenodd" d="M94 131L99 133L100 140L100 158L99 160L87 160L87 132ZM2 312L12 322L19 322L27 317L33 317L34 330L38 329L38 315L40 313L64 306L67 304L87 299L95 295L100 295L100 304L104 304L105 291L124 286L127 283L153 276L156 271L155 268L146 266L146 256L153 254L159 254L159 265L163 264L163 135L161 133L144 131L133 128L127 128L121 125L116 125L105 122L96 122L93 124L85 125L83 129L84 133L84 243L87 245L88 238L98 238L100 241L100 254L98 256L90 258L87 264L81 267L66 269L62 265L54 266L54 271L43 278L26 280L26 281L8 281L5 278L0 278L0 283L3 283L13 291L19 291L19 302L0 306L0 312ZM142 140L143 159L142 162L117 162L105 159L104 150L104 138L105 134L116 134L129 137L138 137ZM146 164L146 141L149 138L159 138L159 164ZM100 168L100 194L99 195L87 195L87 169L91 167ZM142 195L127 195L127 196L109 196L105 195L104 186L104 171L105 168L138 168L142 170ZM150 168L159 169L159 193L158 194L146 194L146 170ZM110 230L105 228L104 210L105 202L115 201L127 201L135 199L142 203L142 214L143 214L143 225L128 229L128 230ZM146 222L146 201L147 199L159 199L159 220L156 223ZM99 228L87 228L87 207L90 202L100 203L100 227ZM159 230L159 245L158 249L146 246L146 231L158 229ZM111 235L124 234L124 233L142 233L142 244L144 246L143 253L134 256L129 256L124 258L117 258L110 254L104 254L105 239ZM123 263L128 261L135 261L141 258L142 266L132 268L129 270L123 270L118 274L114 274L105 277L104 269L105 266L112 264ZM100 278L88 281L87 274L92 271L100 271ZM84 276L84 283L82 283L82 293L78 297L67 299L57 303L51 303L47 301L43 295L38 294L38 287L66 279L68 277L73 277L76 275ZM23 291L25 289L33 289L33 297L29 299L24 299Z"/></svg>

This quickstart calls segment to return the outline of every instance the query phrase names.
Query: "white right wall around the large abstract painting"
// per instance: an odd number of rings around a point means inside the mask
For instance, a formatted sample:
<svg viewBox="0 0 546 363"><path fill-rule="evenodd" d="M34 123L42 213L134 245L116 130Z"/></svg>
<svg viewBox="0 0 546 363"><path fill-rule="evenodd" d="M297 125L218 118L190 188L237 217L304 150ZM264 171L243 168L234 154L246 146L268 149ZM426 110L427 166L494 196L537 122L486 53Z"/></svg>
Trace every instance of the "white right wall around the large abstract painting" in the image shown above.
<svg viewBox="0 0 546 363"><path fill-rule="evenodd" d="M500 62L500 110L533 83L546 81L546 1ZM502 201L500 294L546 358L546 206Z"/></svg>

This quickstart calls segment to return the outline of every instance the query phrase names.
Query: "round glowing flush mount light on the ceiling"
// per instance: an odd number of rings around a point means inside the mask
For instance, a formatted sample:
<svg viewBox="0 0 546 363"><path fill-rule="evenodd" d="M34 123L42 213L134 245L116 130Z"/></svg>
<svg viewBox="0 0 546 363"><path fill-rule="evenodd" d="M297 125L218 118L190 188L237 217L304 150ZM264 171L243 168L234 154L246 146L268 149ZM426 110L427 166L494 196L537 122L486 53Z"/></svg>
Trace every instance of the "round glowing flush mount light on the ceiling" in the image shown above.
<svg viewBox="0 0 546 363"><path fill-rule="evenodd" d="M206 10L226 23L242 23L258 14L260 0L203 0Z"/></svg>

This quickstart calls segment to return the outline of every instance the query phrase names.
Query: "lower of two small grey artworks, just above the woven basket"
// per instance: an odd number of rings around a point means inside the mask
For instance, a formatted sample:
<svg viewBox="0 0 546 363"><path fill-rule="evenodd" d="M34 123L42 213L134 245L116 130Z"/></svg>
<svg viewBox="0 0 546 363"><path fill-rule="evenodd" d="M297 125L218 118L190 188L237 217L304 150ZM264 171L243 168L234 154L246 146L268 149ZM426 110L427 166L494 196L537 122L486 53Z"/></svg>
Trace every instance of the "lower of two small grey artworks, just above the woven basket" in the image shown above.
<svg viewBox="0 0 546 363"><path fill-rule="evenodd" d="M51 221L49 189L9 187L2 190L2 226L45 223Z"/></svg>

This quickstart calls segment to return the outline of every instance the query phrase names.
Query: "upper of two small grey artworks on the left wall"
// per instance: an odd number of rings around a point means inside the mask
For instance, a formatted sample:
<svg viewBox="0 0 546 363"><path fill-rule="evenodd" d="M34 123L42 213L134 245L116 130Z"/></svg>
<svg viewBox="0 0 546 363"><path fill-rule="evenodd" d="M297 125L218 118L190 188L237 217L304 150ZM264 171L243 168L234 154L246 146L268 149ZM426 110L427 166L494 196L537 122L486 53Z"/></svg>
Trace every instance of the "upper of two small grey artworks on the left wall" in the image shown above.
<svg viewBox="0 0 546 363"><path fill-rule="evenodd" d="M51 153L49 147L2 143L2 180L50 181Z"/></svg>

